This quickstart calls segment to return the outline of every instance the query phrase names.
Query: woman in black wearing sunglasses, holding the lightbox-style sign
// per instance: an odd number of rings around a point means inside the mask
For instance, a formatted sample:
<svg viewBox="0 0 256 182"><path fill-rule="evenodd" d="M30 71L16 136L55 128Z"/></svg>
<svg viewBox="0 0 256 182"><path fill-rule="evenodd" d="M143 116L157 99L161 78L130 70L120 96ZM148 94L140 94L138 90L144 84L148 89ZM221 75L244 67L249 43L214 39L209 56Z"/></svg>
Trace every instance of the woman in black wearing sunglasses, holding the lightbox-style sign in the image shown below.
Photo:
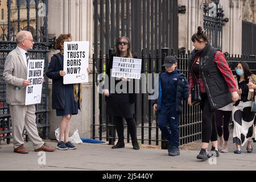
<svg viewBox="0 0 256 182"><path fill-rule="evenodd" d="M105 84L104 84L104 95L106 96L106 115L113 117L115 128L117 129L118 142L112 148L123 148L125 147L125 137L123 136L123 121L122 118L125 118L127 122L128 131L131 135L131 142L133 143L134 150L139 150L139 144L137 141L137 126L134 119L135 114L135 92L129 93L129 84L128 82L134 81L129 78L113 78L112 67L113 67L113 57L127 57L133 58L131 54L131 43L128 38L125 36L118 39L117 44L115 44L115 53L111 57L108 67L106 68ZM118 90L110 88L110 81L114 81L115 88L118 85L127 85L127 89L120 88L125 90L125 92L119 93ZM134 88L134 87L133 87ZM117 93L118 92L118 93Z"/></svg>

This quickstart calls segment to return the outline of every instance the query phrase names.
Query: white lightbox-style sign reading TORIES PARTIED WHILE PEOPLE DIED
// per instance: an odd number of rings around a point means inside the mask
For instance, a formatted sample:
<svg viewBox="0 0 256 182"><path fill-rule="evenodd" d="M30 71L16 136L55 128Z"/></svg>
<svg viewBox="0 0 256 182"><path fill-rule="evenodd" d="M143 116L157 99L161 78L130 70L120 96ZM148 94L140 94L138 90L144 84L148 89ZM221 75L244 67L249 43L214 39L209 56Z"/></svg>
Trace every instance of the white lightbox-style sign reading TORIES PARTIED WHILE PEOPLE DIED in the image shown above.
<svg viewBox="0 0 256 182"><path fill-rule="evenodd" d="M112 77L141 79L141 59L113 57Z"/></svg>

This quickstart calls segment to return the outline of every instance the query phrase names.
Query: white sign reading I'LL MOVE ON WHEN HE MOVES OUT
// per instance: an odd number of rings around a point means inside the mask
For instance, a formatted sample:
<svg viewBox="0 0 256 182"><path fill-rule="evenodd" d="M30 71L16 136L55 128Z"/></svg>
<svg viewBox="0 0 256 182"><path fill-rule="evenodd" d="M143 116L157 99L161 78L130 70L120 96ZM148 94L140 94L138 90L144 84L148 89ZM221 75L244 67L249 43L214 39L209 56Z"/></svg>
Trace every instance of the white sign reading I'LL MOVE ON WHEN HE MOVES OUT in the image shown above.
<svg viewBox="0 0 256 182"><path fill-rule="evenodd" d="M25 105L40 104L43 87L44 60L28 60L27 80L31 85L26 87Z"/></svg>

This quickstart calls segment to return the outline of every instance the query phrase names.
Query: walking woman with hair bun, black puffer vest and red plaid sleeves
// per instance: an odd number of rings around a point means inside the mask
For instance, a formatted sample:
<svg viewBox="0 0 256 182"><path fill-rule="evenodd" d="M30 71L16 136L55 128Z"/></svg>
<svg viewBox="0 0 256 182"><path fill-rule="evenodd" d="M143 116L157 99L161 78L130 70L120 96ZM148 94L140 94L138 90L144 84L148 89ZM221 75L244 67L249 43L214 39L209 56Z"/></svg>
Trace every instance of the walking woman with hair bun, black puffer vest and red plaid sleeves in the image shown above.
<svg viewBox="0 0 256 182"><path fill-rule="evenodd" d="M188 60L189 69L189 97L194 98L192 90L199 85L202 110L202 147L197 159L208 160L218 156L217 129L214 110L220 109L232 101L239 99L234 76L229 69L224 54L209 45L206 31L202 27L197 28L197 33L192 36L195 49ZM192 92L192 93L191 93ZM193 96L192 96L193 94ZM193 101L192 101L193 102ZM207 155L210 140L212 149Z"/></svg>

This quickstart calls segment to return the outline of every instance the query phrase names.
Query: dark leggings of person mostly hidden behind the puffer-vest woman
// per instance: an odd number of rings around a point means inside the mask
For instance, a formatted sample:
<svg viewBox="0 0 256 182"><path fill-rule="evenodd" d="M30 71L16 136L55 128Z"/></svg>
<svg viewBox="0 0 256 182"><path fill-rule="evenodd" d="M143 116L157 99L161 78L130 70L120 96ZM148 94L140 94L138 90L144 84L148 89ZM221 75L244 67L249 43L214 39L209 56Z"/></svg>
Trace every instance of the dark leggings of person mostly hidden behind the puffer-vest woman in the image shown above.
<svg viewBox="0 0 256 182"><path fill-rule="evenodd" d="M231 114L232 114L232 111L224 111L224 110L215 111L218 137L221 137L223 134L225 141L229 140L229 121L230 121ZM223 121L223 131L221 127L222 121Z"/></svg>

